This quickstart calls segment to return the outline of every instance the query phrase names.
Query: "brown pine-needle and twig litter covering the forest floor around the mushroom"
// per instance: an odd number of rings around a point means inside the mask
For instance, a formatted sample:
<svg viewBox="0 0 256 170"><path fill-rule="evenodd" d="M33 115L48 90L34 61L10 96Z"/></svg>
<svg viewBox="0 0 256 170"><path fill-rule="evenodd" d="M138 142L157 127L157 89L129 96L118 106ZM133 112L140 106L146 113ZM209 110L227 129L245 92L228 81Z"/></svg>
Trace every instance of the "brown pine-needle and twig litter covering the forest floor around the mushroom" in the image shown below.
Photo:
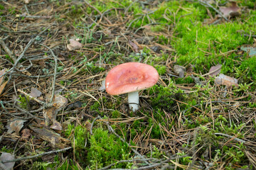
<svg viewBox="0 0 256 170"><path fill-rule="evenodd" d="M199 72L194 60L178 65L178 52L169 40L179 36L175 29L186 15L166 26L150 16L159 1L146 4L150 11L135 14L132 6L139 3L142 8L144 1L116 3L123 7L99 11L98 4L87 1L1 1L0 169L29 169L35 162L55 162L56 155L60 164L55 169L69 159L73 169L110 169L125 162L137 169L256 168L255 91L247 86L255 79L210 77L220 73L221 64ZM205 2L203 6L213 10ZM230 21L228 12L224 14L209 24ZM170 20L168 10L163 18ZM141 26L133 25L137 21ZM151 30L158 25L164 26ZM160 74L154 88L140 93L137 113L129 111L127 96L110 96L101 89L107 72L124 62L151 64ZM105 167L82 166L75 154L75 128L65 134L71 124L90 135L95 127L109 130L129 147L129 159ZM141 129L133 129L135 124ZM87 139L85 148L90 145Z"/></svg>

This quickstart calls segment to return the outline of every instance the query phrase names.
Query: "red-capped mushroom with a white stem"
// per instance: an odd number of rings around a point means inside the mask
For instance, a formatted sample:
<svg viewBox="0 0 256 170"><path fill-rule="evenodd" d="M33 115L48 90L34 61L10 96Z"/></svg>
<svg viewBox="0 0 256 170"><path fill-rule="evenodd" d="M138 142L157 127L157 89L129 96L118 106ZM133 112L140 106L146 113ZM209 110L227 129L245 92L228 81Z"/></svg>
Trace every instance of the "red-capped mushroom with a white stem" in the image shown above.
<svg viewBox="0 0 256 170"><path fill-rule="evenodd" d="M154 67L139 62L119 64L107 74L105 86L110 95L128 94L129 108L139 109L139 91L154 86L159 74Z"/></svg>

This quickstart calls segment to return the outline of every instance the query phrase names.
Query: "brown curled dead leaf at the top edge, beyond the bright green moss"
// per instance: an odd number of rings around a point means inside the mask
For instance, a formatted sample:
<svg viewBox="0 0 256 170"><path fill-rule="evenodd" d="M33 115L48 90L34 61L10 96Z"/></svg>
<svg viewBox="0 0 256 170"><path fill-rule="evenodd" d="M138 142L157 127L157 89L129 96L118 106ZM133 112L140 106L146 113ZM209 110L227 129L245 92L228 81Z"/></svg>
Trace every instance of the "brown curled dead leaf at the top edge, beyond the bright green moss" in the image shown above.
<svg viewBox="0 0 256 170"><path fill-rule="evenodd" d="M222 12L225 17L234 17L240 16L241 9L235 1L230 1L228 7L220 7L220 12Z"/></svg>

